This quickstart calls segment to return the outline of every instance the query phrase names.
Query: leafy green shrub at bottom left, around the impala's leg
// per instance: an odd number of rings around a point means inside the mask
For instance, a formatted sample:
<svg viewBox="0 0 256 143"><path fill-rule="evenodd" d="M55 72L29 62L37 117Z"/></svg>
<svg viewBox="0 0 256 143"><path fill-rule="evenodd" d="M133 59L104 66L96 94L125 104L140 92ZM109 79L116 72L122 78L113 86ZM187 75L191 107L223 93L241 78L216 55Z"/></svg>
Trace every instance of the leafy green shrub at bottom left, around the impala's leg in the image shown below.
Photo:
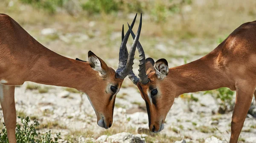
<svg viewBox="0 0 256 143"><path fill-rule="evenodd" d="M41 133L37 131L37 127L40 125L38 121L34 120L33 123L29 124L29 117L23 118L18 116L18 118L20 118L22 126L18 123L16 124L17 143L58 143L60 133L56 134L57 137L54 138L52 138L50 130L41 135ZM9 143L5 124L2 132L0 132L0 141L1 143Z"/></svg>

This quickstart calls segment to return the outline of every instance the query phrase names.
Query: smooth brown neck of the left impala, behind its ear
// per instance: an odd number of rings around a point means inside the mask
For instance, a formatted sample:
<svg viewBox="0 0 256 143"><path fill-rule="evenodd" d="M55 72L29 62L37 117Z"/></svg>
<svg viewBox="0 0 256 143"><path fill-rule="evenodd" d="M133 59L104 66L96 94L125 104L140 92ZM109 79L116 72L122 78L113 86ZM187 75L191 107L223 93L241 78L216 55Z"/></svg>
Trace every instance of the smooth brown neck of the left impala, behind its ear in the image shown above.
<svg viewBox="0 0 256 143"><path fill-rule="evenodd" d="M47 53L39 56L30 70L28 78L27 81L40 84L81 90L90 88L91 84L85 83L91 83L99 76L88 63L69 59L48 50Z"/></svg>

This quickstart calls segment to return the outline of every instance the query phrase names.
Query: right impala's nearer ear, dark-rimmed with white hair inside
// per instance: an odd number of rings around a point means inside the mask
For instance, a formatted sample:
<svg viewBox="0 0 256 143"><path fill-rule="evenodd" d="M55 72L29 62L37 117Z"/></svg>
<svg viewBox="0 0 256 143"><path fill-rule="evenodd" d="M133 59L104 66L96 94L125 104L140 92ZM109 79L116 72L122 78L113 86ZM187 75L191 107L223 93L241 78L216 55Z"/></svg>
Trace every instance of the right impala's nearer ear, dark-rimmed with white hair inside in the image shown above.
<svg viewBox="0 0 256 143"><path fill-rule="evenodd" d="M168 62L166 59L159 59L155 62L154 69L158 79L163 80L169 73Z"/></svg>

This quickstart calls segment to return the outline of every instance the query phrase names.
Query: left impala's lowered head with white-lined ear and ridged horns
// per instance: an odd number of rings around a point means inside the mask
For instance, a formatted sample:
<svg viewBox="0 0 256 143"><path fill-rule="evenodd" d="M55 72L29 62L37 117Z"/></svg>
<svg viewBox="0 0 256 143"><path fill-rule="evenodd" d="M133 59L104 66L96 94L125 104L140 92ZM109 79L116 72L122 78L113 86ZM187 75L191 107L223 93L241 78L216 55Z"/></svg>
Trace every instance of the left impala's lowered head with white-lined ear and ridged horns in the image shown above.
<svg viewBox="0 0 256 143"><path fill-rule="evenodd" d="M136 17L137 14L132 22L132 26L134 25ZM126 48L126 43L130 31L128 30L124 36L124 29L122 28L122 43L119 49L119 66L116 71L113 70L113 68L108 67L108 65L93 52L88 52L87 63L90 64L90 67L93 69L91 72L94 73L93 75L96 75L96 78L91 77L88 79L86 84L90 84L89 91L81 91L87 94L96 113L97 123L102 128L108 129L113 123L113 109L116 93L118 93L125 77L128 76L132 70L134 53L140 37L141 22L140 19L137 36L134 39L129 54ZM80 59L77 60L82 61Z"/></svg>

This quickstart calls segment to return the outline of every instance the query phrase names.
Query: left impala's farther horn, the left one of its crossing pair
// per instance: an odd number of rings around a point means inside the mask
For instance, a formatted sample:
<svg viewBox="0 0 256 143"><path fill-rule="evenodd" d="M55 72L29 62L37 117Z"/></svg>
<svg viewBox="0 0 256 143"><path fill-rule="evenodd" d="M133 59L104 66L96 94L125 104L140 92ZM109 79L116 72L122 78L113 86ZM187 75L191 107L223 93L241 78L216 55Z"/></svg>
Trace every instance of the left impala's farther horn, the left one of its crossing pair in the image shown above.
<svg viewBox="0 0 256 143"><path fill-rule="evenodd" d="M136 17L137 17L137 14L135 15L134 20L131 23L131 28L133 28L133 26L134 26ZM124 30L123 28L124 27L122 27L122 33L123 33L123 30ZM118 64L118 68L116 70L116 73L121 72L124 69L125 64L127 62L128 51L125 50L125 49L127 49L126 48L126 43L128 41L129 35L130 35L130 31L129 30L126 32L125 36L122 35L122 43L121 43L120 49L119 49L119 64Z"/></svg>

